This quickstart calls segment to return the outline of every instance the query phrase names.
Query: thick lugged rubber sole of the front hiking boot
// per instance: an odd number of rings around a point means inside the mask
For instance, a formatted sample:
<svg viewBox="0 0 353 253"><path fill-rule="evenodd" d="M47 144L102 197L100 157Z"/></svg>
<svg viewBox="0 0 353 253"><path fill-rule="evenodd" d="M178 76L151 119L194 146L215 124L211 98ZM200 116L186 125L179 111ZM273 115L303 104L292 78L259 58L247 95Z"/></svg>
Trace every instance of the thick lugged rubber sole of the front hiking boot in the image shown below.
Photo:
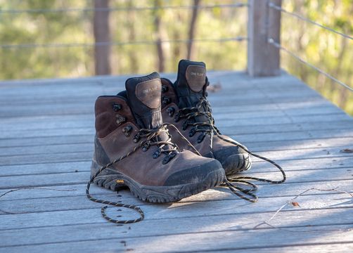
<svg viewBox="0 0 353 253"><path fill-rule="evenodd" d="M91 175L95 174L101 166L95 161L92 161ZM211 171L205 178L198 183L187 183L178 186L144 186L134 181L116 169L104 169L99 174L94 183L96 185L110 189L117 190L127 186L131 193L139 198L139 200L153 203L165 203L165 202L176 202L189 197L197 193L201 193L204 190L219 186L224 180L224 170L218 169Z"/></svg>

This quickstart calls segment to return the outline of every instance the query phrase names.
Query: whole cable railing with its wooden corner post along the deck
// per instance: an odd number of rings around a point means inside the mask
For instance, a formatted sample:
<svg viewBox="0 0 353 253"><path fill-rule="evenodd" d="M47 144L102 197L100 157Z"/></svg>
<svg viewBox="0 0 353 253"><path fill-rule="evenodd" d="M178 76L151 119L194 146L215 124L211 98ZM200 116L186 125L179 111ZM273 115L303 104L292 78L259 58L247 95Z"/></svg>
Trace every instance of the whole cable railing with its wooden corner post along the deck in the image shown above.
<svg viewBox="0 0 353 253"><path fill-rule="evenodd" d="M279 5L275 4L274 2L278 3ZM248 8L249 11L249 22L248 22L248 35L247 36L236 36L236 37L227 37L227 38L203 38L203 39L162 39L162 40L136 40L136 41L100 41L100 42L72 42L72 43L48 43L48 44L0 44L0 49L21 49L21 48L71 48L71 47L100 47L100 46L124 46L124 45L155 45L155 44L188 44L191 42L196 42L196 43L226 43L230 41L248 41L248 71L250 68L257 71L257 69L267 68L267 69L274 69L276 68L276 60L272 59L272 66L267 66L267 61L269 60L269 57L266 56L266 52L264 56L258 56L261 54L261 50L264 51L262 48L265 46L265 44L256 44L257 40L262 40L261 37L257 37L257 35L254 32L261 32L263 30L263 27L266 30L266 34L264 35L264 43L267 43L268 45L271 45L273 48L278 49L278 51L283 51L285 53L288 53L291 57L295 58L298 60L300 63L307 65L309 67L312 67L312 69L316 70L317 72L323 74L324 76L328 77L331 79L333 82L340 84L340 86L345 87L349 91L353 91L353 88L349 86L348 84L345 84L344 82L340 81L336 77L333 77L331 74L328 72L325 72L321 70L321 68L316 67L312 63L309 63L307 60L304 60L300 56L297 56L296 53L293 53L292 51L288 50L285 48L283 45L279 43L279 27L277 25L276 29L277 31L275 32L269 32L269 27L271 27L271 18L274 18L273 16L276 15L275 13L271 13L271 11L275 11L278 13L285 13L285 15L290 15L298 20L302 20L304 22L308 22L312 25L315 25L317 27L321 27L324 30L327 30L328 32L333 32L334 34L338 34L344 39L349 39L352 40L353 37L345 34L343 32L339 32L337 30L334 30L330 27L327 27L325 25L320 24L319 22L316 22L314 20L311 20L309 18L303 17L299 13L291 12L285 10L285 8L282 8L281 6L281 1L270 1L270 0L249 0L248 2L236 2L233 4L208 4L208 5L181 5L181 6L128 6L128 7L109 7L109 8L35 8L35 9L0 9L0 17L1 15L19 15L22 13L43 13L44 15L46 13L68 13L68 12L108 12L108 11L154 11L154 10L183 10L183 9L190 9L194 10L195 8L197 9L212 9L212 8L243 8L246 7ZM260 14L259 7L262 6L261 11L262 13ZM255 9L257 8L257 11ZM250 15L251 14L251 15ZM261 18L258 17L258 15L266 15L266 17L261 20ZM272 16L272 17L271 17ZM254 18L254 20L250 20L251 18ZM276 20L278 18L278 20ZM279 18L281 18L281 15L276 15L276 18L272 20L272 26L276 26L276 22L279 21ZM260 19L260 21L258 21ZM255 22L256 24L254 24ZM256 26L263 25L263 27L260 29L256 29ZM249 26L252 26L252 28L249 28ZM254 29L255 26L255 29ZM250 33L250 30L252 29L252 33ZM275 34L275 35L274 35ZM254 36L256 35L256 36ZM277 35L277 36L276 36ZM261 35L262 36L262 35ZM251 48L252 47L252 48ZM249 53L249 51L251 53ZM273 53L274 51L271 51L269 48L267 48L267 53ZM252 57L252 60L250 60L250 55ZM271 56L270 56L271 57ZM278 56L276 56L278 57ZM262 58L261 60L258 60L258 58ZM251 62L251 63L250 63ZM260 63L257 63L260 62ZM273 63L274 62L274 63ZM279 66L279 60L277 60L278 67ZM269 65L271 65L269 64ZM262 65L259 67L259 65ZM278 72L272 71L272 70L265 70L265 74L252 74L254 76L256 75L267 75L267 74L276 74ZM251 72L251 71L249 71Z"/></svg>

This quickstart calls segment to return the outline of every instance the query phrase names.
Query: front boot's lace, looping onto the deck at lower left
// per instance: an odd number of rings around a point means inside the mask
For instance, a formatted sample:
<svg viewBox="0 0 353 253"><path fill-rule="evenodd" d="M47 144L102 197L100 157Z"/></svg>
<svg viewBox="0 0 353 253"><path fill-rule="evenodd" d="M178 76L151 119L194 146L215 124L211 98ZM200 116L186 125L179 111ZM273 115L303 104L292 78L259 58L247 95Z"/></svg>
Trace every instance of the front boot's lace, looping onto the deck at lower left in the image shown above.
<svg viewBox="0 0 353 253"><path fill-rule="evenodd" d="M158 153L158 155L160 155L161 153L166 153L166 160L163 160L163 162L167 163L169 162L169 160L171 160L176 153L179 153L179 147L175 144L172 143L171 138L172 136L170 136L167 126L172 126L178 134L180 134L181 138L184 139L184 141L186 141L186 143L188 143L188 145L193 148L193 150L195 150L196 153L198 153L198 150L195 149L195 147L193 147L193 145L180 133L180 131L177 129L176 126L174 126L173 124L169 124L169 123L164 123L162 125L160 125L157 129L140 129L138 134L139 134L139 138L146 138L146 140L141 141L138 145L136 145L132 150L130 150L128 153L126 153L125 155L123 155L122 157L119 157L117 159L115 159L113 162L110 162L108 164L105 164L105 166L101 167L101 169L99 169L98 171L96 171L96 174L94 174L94 176L91 176L91 179L89 180L89 182L87 183L86 186L86 196L88 197L89 200L93 201L93 202L97 202L97 203L101 203L101 204L105 204L105 205L112 205L115 207L125 207L125 208L129 208L129 209L134 209L136 212L139 212L140 217L138 219L131 219L131 220L117 220L117 219L112 219L110 218L106 213L105 213L105 209L107 209L108 206L104 206L101 207L101 214L103 216L104 219L113 222L113 223L135 223L135 222L139 222L142 221L145 217L145 214L143 214L143 211L140 207L137 207L136 205L127 205L127 204L123 204L121 202L110 202L108 200L98 200L95 197L92 197L92 195L89 193L89 188L91 187L91 183L94 183L94 179L96 179L96 177L101 174L101 172L104 169L107 169L108 167L112 166L113 164L116 164L117 162L120 162L122 160L124 160L126 157L128 157L129 155L131 155L132 153L136 152L136 150L138 150L139 148L142 148L143 146L148 148L151 145L157 145L158 146L158 151L156 151ZM167 134L168 138L166 141L159 141L158 140L158 136L160 136L160 134L165 133ZM165 146L167 145L167 149L163 149ZM155 155L155 154L153 154ZM198 153L198 155L200 155L200 153Z"/></svg>

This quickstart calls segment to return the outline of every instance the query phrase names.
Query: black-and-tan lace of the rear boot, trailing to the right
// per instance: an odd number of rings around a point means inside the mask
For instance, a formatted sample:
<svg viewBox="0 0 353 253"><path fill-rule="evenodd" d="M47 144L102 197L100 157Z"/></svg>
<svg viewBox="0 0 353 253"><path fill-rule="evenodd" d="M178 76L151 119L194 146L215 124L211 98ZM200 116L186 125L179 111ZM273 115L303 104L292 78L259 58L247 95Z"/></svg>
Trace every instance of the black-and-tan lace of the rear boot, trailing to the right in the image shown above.
<svg viewBox="0 0 353 253"><path fill-rule="evenodd" d="M206 118L206 122L198 122L197 120L193 120L194 122L191 122L191 119L195 119L196 117L199 117L199 116L204 116ZM247 180L262 181L262 182L274 183L274 184L285 182L285 179L286 179L285 172L283 171L281 166L279 166L276 162L269 160L267 157L262 157L261 155L252 153L250 150L248 150L248 148L245 148L245 146L241 145L240 143L228 140L221 136L219 129L217 129L217 127L214 126L214 118L212 117L211 105L204 96L200 98L200 101L194 107L179 109L176 115L176 119L179 120L181 118L185 118L183 129L186 129L188 125L193 126L193 129L191 129L191 134L192 134L191 136L193 136L193 134L197 132L202 133L198 137L198 141L200 142L203 141L203 138L205 138L205 135L210 134L210 148L211 148L210 150L212 150L212 137L213 135L215 135L217 136L217 138L220 138L222 141L226 141L227 143L231 143L233 145L236 145L239 148L242 148L249 155L252 155L254 157L257 157L261 160L264 160L266 162L273 164L275 167L278 168L279 171L281 171L283 179L277 180L277 181L271 180L271 179L262 179L255 176L236 176L233 178L226 177L224 179L224 183L222 184L222 186L227 186L238 197L242 198L243 200L248 200L250 202L257 202L258 197L253 193L257 190L257 186L254 183L251 183ZM243 188L243 187L237 186L236 183L248 185L248 186L251 186L251 188ZM248 195L249 197L246 197L245 195Z"/></svg>

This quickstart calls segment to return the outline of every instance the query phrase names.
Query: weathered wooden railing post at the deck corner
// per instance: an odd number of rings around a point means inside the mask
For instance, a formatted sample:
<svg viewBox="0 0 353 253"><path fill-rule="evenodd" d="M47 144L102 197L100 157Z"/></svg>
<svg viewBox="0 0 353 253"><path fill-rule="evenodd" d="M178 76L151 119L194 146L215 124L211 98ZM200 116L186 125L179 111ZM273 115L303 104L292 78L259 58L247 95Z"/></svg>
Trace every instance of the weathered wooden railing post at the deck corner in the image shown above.
<svg viewBox="0 0 353 253"><path fill-rule="evenodd" d="M268 38L280 41L281 12L269 8L281 6L281 0L248 0L248 74L266 77L280 74L279 49Z"/></svg>

